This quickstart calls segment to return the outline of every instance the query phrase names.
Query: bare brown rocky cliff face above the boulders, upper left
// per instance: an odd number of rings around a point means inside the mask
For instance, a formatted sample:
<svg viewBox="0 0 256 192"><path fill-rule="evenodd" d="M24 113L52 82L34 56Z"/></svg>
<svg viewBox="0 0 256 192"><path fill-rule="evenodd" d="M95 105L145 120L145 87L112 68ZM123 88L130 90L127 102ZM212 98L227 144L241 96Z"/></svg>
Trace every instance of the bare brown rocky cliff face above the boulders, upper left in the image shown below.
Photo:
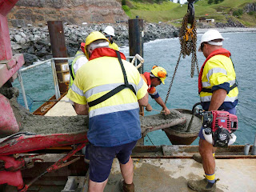
<svg viewBox="0 0 256 192"><path fill-rule="evenodd" d="M123 22L128 17L116 0L19 0L8 14L10 26L45 25L61 20L82 22Z"/></svg>

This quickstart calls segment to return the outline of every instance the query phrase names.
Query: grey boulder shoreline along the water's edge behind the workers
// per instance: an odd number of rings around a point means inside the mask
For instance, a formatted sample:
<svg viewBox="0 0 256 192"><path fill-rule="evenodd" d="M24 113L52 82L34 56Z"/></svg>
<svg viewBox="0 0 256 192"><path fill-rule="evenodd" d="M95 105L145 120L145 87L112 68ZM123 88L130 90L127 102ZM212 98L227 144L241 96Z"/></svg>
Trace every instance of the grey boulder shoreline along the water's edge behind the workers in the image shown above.
<svg viewBox="0 0 256 192"><path fill-rule="evenodd" d="M85 42L86 37L94 30L104 30L106 26L111 25L115 29L114 42L118 46L129 45L129 32L126 23L101 23L85 25L66 25L64 23L64 32L66 38L66 47L69 57L79 48L81 42ZM178 28L164 23L153 24L144 22L144 42L153 41L158 38L178 37ZM198 34L204 33L207 29L198 29ZM218 28L223 32L256 32L255 28L245 27L226 27ZM10 40L14 54L22 53L25 58L25 65L28 66L38 60L52 58L50 38L47 26L27 26L23 28L10 28Z"/></svg>

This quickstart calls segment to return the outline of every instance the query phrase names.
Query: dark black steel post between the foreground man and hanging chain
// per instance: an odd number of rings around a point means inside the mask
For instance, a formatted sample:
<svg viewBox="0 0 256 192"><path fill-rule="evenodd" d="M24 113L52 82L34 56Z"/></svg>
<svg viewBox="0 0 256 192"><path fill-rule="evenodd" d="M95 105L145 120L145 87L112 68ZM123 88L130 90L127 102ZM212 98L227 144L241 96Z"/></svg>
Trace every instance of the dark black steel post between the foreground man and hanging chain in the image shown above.
<svg viewBox="0 0 256 192"><path fill-rule="evenodd" d="M129 19L129 46L130 55L139 54L143 58L143 19ZM143 66L139 68L140 73L143 73Z"/></svg>

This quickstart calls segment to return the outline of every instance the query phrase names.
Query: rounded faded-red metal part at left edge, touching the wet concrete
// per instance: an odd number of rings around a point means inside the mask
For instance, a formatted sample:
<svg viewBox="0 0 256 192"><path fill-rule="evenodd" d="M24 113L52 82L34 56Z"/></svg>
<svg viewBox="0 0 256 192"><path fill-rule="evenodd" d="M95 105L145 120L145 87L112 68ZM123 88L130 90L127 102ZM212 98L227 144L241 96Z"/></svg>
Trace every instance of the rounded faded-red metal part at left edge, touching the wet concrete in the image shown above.
<svg viewBox="0 0 256 192"><path fill-rule="evenodd" d="M2 94L0 94L0 107L0 134L8 135L17 133L19 127L14 116L14 111L8 99Z"/></svg>

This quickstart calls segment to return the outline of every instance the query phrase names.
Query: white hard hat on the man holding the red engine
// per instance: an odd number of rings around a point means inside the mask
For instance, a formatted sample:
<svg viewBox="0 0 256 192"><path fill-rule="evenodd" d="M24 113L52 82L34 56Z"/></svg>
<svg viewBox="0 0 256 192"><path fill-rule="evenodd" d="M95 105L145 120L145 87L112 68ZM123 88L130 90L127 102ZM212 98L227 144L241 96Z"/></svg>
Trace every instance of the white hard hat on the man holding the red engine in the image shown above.
<svg viewBox="0 0 256 192"><path fill-rule="evenodd" d="M222 39L221 42L212 42L215 39ZM201 50L201 44L202 42L207 42L210 45L215 46L222 46L222 42L224 41L224 38L222 37L222 34L218 32L218 30L207 30L206 33L202 35L200 46L198 48L199 52L202 52Z"/></svg>

